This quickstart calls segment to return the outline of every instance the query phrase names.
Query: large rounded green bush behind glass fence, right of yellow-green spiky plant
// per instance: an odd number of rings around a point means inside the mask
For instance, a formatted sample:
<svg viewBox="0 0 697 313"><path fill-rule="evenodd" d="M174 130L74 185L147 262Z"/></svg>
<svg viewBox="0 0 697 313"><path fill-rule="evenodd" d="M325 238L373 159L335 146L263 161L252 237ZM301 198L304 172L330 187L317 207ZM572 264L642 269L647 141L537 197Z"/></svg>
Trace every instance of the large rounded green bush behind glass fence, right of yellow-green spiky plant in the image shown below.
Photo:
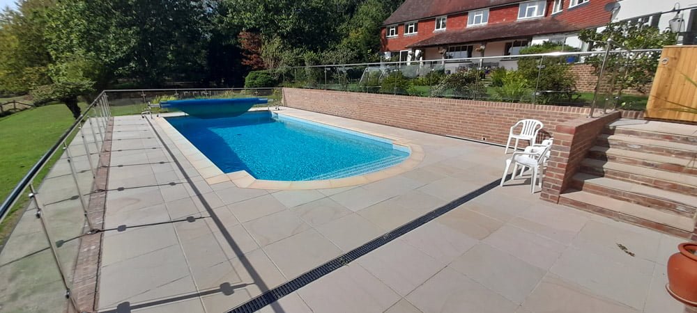
<svg viewBox="0 0 697 313"><path fill-rule="evenodd" d="M544 54L555 51L569 51L568 46L556 45L544 42L542 45L530 46L521 50L521 54ZM568 99L569 95L576 92L576 79L571 73L571 65L567 63L565 56L545 57L542 60L542 70L539 70L539 58L520 58L518 70L531 84L537 85L537 91L549 90L553 93L539 93L537 102L549 104ZM539 83L538 83L539 77Z"/></svg>

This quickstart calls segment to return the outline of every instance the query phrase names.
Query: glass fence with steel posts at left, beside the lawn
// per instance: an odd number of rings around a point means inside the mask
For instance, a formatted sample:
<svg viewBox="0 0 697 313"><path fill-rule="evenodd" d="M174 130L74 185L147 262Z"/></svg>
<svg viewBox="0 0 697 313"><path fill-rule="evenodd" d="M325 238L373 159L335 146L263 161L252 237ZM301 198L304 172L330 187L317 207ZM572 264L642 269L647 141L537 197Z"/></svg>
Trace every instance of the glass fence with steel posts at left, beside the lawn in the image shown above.
<svg viewBox="0 0 697 313"><path fill-rule="evenodd" d="M78 118L0 207L0 310L75 312L71 290L81 239L100 195L95 177L107 140L104 94ZM27 142L26 145L31 145Z"/></svg>

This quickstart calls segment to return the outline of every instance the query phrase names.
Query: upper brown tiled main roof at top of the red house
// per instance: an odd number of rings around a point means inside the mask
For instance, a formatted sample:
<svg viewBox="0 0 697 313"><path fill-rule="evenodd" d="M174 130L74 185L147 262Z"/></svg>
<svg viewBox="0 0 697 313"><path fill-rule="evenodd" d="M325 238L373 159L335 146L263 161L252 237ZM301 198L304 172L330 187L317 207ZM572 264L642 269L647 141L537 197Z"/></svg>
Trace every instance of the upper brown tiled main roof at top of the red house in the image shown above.
<svg viewBox="0 0 697 313"><path fill-rule="evenodd" d="M523 0L406 0L383 24L397 24L521 1Z"/></svg>

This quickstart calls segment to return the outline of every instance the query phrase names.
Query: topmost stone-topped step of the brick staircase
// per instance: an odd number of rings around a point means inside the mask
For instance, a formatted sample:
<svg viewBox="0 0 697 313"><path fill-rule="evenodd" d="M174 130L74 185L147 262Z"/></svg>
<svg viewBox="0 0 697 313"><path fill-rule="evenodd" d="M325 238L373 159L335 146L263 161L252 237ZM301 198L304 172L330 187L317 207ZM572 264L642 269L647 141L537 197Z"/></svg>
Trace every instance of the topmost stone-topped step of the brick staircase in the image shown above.
<svg viewBox="0 0 697 313"><path fill-rule="evenodd" d="M608 125L604 133L697 145L696 130L693 125L622 119Z"/></svg>

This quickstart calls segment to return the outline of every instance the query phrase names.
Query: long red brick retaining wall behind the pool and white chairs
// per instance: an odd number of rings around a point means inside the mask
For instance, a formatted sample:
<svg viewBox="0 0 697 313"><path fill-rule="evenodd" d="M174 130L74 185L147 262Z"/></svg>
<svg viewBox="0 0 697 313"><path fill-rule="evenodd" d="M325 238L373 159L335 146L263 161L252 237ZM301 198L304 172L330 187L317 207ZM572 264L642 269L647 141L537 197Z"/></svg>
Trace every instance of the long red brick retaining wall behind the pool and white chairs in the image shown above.
<svg viewBox="0 0 697 313"><path fill-rule="evenodd" d="M540 137L555 127L588 115L588 108L512 104L473 100L376 95L330 90L283 88L286 106L374 122L429 134L505 144L510 127L534 118L544 123Z"/></svg>

